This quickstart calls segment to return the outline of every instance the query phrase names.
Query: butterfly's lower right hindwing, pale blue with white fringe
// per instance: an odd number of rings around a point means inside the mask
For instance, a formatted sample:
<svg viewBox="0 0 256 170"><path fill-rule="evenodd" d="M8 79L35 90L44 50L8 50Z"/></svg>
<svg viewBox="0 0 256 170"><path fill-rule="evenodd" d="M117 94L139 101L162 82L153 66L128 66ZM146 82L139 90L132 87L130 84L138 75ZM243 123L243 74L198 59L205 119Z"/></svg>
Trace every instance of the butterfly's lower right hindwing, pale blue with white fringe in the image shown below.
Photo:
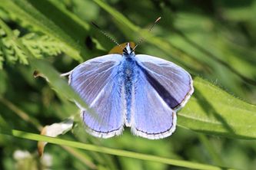
<svg viewBox="0 0 256 170"><path fill-rule="evenodd" d="M147 139L171 136L176 127L176 113L165 103L138 68L131 90L131 132Z"/></svg>

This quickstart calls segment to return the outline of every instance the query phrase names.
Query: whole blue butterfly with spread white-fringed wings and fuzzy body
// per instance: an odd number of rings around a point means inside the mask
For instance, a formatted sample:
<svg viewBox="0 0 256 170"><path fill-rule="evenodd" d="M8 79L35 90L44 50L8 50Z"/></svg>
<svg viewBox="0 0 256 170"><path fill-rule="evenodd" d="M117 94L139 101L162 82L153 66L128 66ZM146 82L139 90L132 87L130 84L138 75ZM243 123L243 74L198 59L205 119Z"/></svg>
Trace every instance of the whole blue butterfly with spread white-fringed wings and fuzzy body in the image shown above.
<svg viewBox="0 0 256 170"><path fill-rule="evenodd" d="M75 67L69 84L96 113L79 106L87 132L101 138L120 135L124 126L147 139L171 136L176 111L194 92L186 70L158 57L136 55L129 43L122 55L95 57Z"/></svg>

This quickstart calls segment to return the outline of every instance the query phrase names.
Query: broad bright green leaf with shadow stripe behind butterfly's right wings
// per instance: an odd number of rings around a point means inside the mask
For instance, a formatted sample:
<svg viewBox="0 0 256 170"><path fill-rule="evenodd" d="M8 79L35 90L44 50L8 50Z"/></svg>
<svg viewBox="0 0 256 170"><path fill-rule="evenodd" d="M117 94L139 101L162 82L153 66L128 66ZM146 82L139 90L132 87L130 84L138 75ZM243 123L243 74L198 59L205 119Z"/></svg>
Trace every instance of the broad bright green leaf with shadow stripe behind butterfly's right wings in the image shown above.
<svg viewBox="0 0 256 170"><path fill-rule="evenodd" d="M194 94L178 113L178 126L210 135L256 139L256 106L196 77Z"/></svg>

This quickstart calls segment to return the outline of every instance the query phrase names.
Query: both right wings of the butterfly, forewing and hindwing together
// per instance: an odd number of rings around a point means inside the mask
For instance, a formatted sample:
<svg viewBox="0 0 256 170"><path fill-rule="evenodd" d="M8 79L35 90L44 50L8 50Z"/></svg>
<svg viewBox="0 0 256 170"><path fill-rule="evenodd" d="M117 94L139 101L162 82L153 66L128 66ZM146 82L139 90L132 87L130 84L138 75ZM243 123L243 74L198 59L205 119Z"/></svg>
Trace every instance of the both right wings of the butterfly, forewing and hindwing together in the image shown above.
<svg viewBox="0 0 256 170"><path fill-rule="evenodd" d="M131 93L131 131L148 139L171 136L176 112L193 93L191 76L181 67L157 57L136 55Z"/></svg>

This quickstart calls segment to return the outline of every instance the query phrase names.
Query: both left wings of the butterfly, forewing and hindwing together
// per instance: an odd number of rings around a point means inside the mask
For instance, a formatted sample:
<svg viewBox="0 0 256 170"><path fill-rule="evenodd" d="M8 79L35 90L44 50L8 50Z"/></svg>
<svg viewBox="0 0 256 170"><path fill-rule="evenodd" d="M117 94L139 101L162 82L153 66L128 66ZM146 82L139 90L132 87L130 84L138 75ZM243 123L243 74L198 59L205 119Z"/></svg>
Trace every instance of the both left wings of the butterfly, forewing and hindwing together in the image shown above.
<svg viewBox="0 0 256 170"><path fill-rule="evenodd" d="M121 55L96 57L71 70L69 84L88 104L93 113L81 108L87 131L102 138L119 135L124 124L122 86L118 78Z"/></svg>

